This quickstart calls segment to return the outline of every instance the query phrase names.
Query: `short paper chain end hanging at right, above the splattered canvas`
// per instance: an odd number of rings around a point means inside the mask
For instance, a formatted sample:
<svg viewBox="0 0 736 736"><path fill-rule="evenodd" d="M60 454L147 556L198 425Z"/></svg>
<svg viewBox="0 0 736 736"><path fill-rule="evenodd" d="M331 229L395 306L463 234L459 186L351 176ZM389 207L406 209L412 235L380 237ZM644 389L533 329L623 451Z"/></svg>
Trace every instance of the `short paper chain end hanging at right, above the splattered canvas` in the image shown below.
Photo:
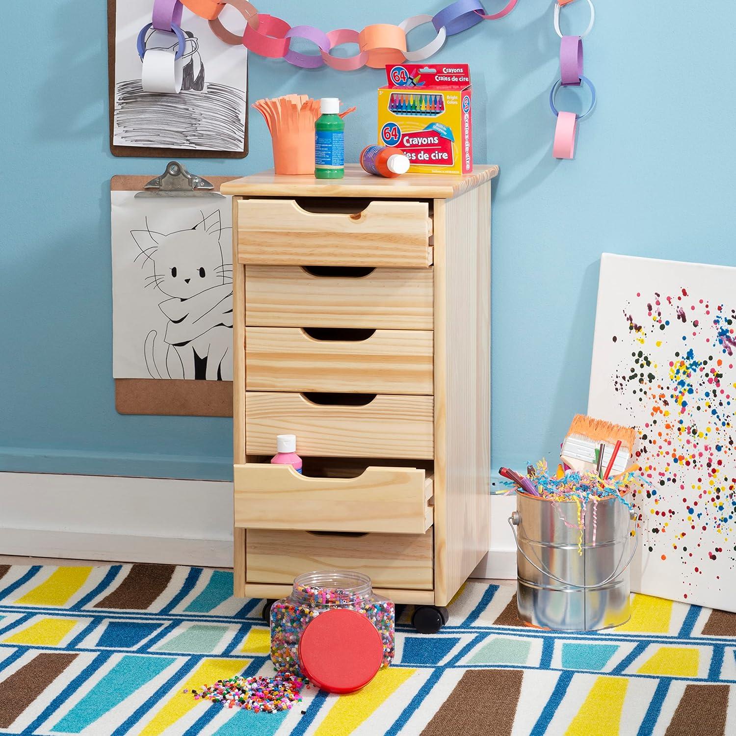
<svg viewBox="0 0 736 736"><path fill-rule="evenodd" d="M550 91L550 107L554 115L557 117L557 125L554 132L554 144L552 146L552 155L554 158L573 158L575 155L575 135L578 127L578 120L587 118L595 107L595 87L590 79L583 76L583 39L592 31L595 24L595 7L592 0L588 0L590 5L590 23L587 29L579 36L564 36L559 29L559 10L564 5L570 4L573 0L557 0L554 7L554 29L556 34L562 39L559 44L559 71L560 78L552 85ZM554 98L560 87L586 85L590 89L590 107L587 112L582 115L576 113L567 113L564 110L557 110L554 104Z"/></svg>

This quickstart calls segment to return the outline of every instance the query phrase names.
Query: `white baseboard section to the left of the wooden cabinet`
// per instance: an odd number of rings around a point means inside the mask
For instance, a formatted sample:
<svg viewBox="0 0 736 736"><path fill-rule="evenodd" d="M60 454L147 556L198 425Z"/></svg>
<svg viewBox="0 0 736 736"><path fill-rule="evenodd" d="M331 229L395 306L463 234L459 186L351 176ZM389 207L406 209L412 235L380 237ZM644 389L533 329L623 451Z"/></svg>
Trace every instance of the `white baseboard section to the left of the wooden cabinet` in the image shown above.
<svg viewBox="0 0 736 736"><path fill-rule="evenodd" d="M233 484L0 473L0 554L233 565Z"/></svg>

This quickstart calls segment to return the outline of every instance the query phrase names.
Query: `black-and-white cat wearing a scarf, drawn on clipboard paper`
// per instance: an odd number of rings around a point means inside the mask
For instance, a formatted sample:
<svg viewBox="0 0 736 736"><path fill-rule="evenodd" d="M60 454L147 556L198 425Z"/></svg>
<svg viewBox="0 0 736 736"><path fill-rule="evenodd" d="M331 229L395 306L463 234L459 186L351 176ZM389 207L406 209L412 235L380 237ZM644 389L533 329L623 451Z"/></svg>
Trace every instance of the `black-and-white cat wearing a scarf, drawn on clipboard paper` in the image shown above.
<svg viewBox="0 0 736 736"><path fill-rule="evenodd" d="M166 295L158 305L166 331L150 330L144 353L152 378L233 380L232 264L222 255L219 210L187 230L159 233L149 227L131 230L141 251L138 258L153 266L145 289ZM227 228L230 230L230 228Z"/></svg>

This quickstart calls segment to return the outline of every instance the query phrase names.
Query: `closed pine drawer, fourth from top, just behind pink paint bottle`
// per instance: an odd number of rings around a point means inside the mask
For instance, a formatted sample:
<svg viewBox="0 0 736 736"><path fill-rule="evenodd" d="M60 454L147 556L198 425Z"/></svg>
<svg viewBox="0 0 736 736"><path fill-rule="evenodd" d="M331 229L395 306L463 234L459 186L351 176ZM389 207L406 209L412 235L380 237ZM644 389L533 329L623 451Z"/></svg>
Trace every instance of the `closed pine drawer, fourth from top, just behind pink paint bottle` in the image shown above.
<svg viewBox="0 0 736 736"><path fill-rule="evenodd" d="M342 401L350 394L342 394ZM277 434L296 434L302 456L431 459L434 399L379 394L364 406L340 394L245 394L246 452L272 455ZM336 403L322 403L325 400Z"/></svg>

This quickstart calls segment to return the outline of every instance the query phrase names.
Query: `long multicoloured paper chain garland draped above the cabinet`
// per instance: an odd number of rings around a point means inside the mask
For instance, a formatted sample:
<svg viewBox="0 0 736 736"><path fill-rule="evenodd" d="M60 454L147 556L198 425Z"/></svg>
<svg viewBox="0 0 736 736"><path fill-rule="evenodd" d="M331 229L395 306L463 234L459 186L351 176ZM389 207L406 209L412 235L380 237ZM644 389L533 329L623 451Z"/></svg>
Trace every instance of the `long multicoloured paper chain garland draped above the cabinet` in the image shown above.
<svg viewBox="0 0 736 736"><path fill-rule="evenodd" d="M508 0L506 7L498 13L486 14L479 0L456 0L436 15L414 15L397 26L379 23L366 26L362 31L341 28L324 33L314 26L291 27L281 18L259 13L247 0L155 0L152 22L144 26L138 35L138 54L146 66L146 33L154 28L177 36L179 49L177 58L183 54L181 39L182 6L195 15L210 22L212 32L224 41L236 46L242 43L249 51L273 59L284 59L300 68L317 68L325 65L337 71L353 71L362 66L383 68L386 64L399 64L404 60L418 62L428 59L442 48L447 36L472 28L481 21L496 21L509 15L518 0ZM567 0L570 2L570 0ZM219 19L225 5L232 5L246 21L242 35L227 30ZM408 51L406 34L425 23L431 23L436 37L426 46ZM319 49L319 54L302 54L291 50L292 38L304 38ZM342 43L357 43L358 54L347 58L334 57L330 52ZM155 50L155 49L152 49ZM579 83L579 82L578 82ZM179 85L181 87L181 85ZM178 90L176 90L178 91Z"/></svg>

